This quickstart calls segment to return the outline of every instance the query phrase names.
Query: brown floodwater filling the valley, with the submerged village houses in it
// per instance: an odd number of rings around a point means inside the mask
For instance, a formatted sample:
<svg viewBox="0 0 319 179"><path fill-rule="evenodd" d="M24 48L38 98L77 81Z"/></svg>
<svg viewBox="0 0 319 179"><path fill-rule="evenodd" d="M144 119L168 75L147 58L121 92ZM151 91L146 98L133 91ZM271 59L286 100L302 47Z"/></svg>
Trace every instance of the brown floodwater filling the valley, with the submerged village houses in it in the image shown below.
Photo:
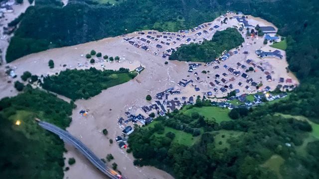
<svg viewBox="0 0 319 179"><path fill-rule="evenodd" d="M265 35L246 36L247 28L251 31L257 25ZM237 28L241 32L245 39L242 46L224 51L220 57L207 63L168 60L172 51L182 44L210 40L217 30L228 27ZM65 69L90 67L98 70L118 70L124 67L137 71L139 75L134 80L103 90L90 99L76 100L76 112L73 111L72 123L67 130L98 155L112 153L124 174L133 175L133 171L140 170L134 173L134 177L151 178L156 173L167 179L171 176L162 174L160 170L151 167L137 169L132 162L128 163L133 160L133 156L122 150L127 147L128 136L136 126L148 125L157 116L164 116L185 104L194 104L197 96L211 100L213 106L233 109L250 108L289 95L287 91L296 88L299 82L286 69L288 64L285 51L270 46L274 41L281 41L276 32L277 28L263 19L229 12L212 22L178 32L145 30L86 44L50 49L22 57L3 67L1 70L6 77L2 78L5 81L0 87L3 89L0 94L14 95L15 90L7 82L13 81L14 77L17 79L24 71L38 77L58 74ZM265 39L268 44L264 44ZM84 54L92 49L109 57L119 56L120 60L110 62L95 58L95 63L90 64ZM53 59L56 64L53 69L47 67L49 59ZM277 88L282 92L271 92ZM234 92L235 95L228 96ZM152 96L149 101L145 99L147 94ZM109 131L107 138L102 134L103 128ZM109 139L115 139L117 144L109 144ZM94 142L96 140L100 142L97 144ZM69 146L66 148L66 157L75 156L74 149ZM66 177L78 176L78 171L86 171L83 176L87 178L103 178L89 170L87 161L77 157L76 160L80 162L66 173Z"/></svg>

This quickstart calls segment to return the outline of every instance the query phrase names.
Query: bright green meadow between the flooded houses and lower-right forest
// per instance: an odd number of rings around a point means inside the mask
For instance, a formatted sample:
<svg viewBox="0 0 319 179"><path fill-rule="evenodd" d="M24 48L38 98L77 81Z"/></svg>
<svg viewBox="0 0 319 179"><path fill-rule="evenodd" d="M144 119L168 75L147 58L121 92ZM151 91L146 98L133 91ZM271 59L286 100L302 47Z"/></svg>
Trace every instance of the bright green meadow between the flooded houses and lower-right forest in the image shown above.
<svg viewBox="0 0 319 179"><path fill-rule="evenodd" d="M203 107L193 107L191 109L183 108L182 112L186 115L191 115L192 112L198 112L199 115L204 116L207 119L215 119L217 123L221 121L231 120L228 116L229 109L221 108L217 106L203 106Z"/></svg>

